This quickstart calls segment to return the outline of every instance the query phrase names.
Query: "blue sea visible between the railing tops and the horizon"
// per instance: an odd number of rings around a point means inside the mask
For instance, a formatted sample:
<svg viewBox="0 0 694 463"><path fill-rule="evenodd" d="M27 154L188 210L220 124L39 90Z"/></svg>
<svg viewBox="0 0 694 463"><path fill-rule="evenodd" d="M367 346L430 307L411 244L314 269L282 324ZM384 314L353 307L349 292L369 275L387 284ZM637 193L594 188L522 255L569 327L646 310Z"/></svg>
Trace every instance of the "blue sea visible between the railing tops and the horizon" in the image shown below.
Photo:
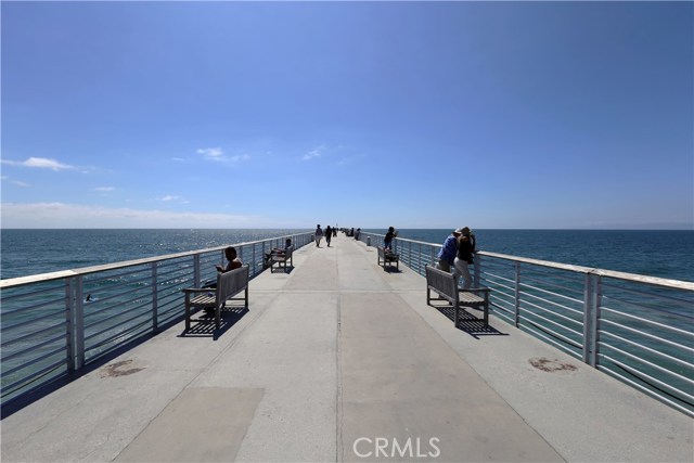
<svg viewBox="0 0 694 463"><path fill-rule="evenodd" d="M2 279L262 240L306 230L2 230ZM367 230L364 230L367 231ZM369 230L385 233L383 230ZM401 229L440 244L450 230ZM608 270L694 281L694 231L475 230L477 248Z"/></svg>

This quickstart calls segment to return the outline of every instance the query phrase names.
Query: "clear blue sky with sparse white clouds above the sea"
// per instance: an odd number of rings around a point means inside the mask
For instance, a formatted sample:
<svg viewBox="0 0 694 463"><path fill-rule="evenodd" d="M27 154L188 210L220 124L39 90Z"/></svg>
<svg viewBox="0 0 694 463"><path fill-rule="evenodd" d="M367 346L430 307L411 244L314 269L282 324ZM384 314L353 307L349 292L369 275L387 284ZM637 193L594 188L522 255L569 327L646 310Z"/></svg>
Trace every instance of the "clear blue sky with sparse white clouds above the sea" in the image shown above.
<svg viewBox="0 0 694 463"><path fill-rule="evenodd" d="M694 229L692 2L9 2L3 228Z"/></svg>

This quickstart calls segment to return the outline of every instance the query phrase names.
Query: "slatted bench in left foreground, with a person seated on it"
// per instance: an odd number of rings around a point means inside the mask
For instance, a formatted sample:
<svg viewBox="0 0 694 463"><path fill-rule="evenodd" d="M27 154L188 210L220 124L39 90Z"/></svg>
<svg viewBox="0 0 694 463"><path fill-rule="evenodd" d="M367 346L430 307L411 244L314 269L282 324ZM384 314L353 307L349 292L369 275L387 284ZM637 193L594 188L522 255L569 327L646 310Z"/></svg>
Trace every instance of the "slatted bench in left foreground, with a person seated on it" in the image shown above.
<svg viewBox="0 0 694 463"><path fill-rule="evenodd" d="M217 274L217 287L187 287L185 294L185 331L191 329L193 309L215 309L215 325L221 324L221 309L228 300L243 300L248 308L248 266ZM241 292L243 297L233 297Z"/></svg>

